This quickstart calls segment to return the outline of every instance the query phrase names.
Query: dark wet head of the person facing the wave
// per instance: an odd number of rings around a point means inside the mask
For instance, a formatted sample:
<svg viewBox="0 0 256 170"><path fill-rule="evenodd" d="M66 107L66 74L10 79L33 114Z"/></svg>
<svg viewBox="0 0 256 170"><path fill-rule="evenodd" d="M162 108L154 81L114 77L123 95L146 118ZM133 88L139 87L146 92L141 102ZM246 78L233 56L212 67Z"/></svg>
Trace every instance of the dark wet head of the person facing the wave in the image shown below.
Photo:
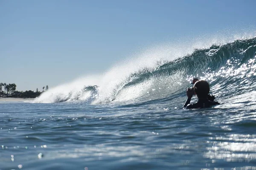
<svg viewBox="0 0 256 170"><path fill-rule="evenodd" d="M202 98L202 99L207 98L210 92L209 83L205 80L198 80L197 82L195 82L195 85L193 88L198 98Z"/></svg>

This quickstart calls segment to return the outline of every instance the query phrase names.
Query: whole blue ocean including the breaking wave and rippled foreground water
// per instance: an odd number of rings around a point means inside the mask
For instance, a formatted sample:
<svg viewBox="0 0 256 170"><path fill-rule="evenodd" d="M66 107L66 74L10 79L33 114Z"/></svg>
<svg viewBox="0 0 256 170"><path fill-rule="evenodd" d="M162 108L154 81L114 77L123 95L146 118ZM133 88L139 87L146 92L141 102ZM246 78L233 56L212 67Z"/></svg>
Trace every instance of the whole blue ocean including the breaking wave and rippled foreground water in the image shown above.
<svg viewBox="0 0 256 170"><path fill-rule="evenodd" d="M0 170L256 170L256 38L162 50L1 100ZM221 105L183 109L192 78Z"/></svg>

